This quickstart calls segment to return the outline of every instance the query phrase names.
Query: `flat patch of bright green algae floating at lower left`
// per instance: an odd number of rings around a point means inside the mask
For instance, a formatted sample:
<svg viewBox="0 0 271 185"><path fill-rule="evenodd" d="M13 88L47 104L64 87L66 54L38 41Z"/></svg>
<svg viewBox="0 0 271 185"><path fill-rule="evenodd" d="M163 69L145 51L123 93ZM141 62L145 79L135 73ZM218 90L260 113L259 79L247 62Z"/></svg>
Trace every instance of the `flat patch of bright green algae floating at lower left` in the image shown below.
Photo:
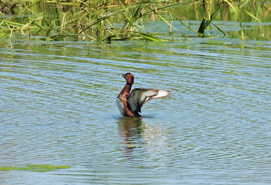
<svg viewBox="0 0 271 185"><path fill-rule="evenodd" d="M0 167L0 171L28 170L33 172L50 172L59 169L68 169L69 165L50 165L50 164L27 164L26 167Z"/></svg>

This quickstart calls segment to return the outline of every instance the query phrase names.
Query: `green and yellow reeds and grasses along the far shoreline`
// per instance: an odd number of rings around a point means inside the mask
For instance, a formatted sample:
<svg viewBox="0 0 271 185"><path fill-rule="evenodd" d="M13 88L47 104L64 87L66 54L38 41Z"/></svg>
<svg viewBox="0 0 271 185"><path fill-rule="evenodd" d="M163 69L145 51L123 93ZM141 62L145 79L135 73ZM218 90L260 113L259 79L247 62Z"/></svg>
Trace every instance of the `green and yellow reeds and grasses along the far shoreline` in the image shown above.
<svg viewBox="0 0 271 185"><path fill-rule="evenodd" d="M233 12L240 24L242 40L244 40L244 30L239 11L243 11L251 17L254 22L259 22L252 13L242 8L242 4L247 2L233 2L232 0L209 1L123 1L123 0L39 0L33 2L4 2L0 0L0 35L8 35L9 39L14 34L27 34L31 36L41 36L47 41L61 41L66 38L75 40L107 41L113 40L152 40L166 41L145 29L146 20L162 21L164 26L169 27L169 34L174 30L173 21L186 27L193 32L194 37L212 36L212 29L225 32L219 25L213 23L220 14ZM201 24L198 29L193 29L190 22L183 21L178 16L178 11L174 7L185 4L200 4L203 6L205 16L201 17ZM255 4L257 2L248 2ZM260 2L264 4L265 2ZM196 4L196 5L194 5ZM61 12L56 11L60 9ZM179 9L180 10L180 9ZM224 10L224 11L223 11ZM194 13L197 10L195 9ZM191 37L180 34L184 39Z"/></svg>

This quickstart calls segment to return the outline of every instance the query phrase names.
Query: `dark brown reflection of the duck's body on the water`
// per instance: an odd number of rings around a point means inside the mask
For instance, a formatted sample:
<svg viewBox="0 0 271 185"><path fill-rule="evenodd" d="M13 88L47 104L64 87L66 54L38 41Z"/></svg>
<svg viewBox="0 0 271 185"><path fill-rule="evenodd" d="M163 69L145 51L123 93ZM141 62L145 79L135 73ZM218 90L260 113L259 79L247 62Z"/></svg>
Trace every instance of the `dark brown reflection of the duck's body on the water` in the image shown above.
<svg viewBox="0 0 271 185"><path fill-rule="evenodd" d="M118 127L120 136L123 137L126 153L141 146L142 121L141 118L131 119L122 117L119 119Z"/></svg>

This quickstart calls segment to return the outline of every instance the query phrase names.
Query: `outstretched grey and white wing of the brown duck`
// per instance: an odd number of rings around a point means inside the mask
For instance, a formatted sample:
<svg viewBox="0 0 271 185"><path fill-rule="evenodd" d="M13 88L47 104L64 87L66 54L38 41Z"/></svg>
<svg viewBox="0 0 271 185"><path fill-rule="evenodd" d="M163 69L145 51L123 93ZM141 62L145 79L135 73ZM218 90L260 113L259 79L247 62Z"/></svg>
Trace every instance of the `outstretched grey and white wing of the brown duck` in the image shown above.
<svg viewBox="0 0 271 185"><path fill-rule="evenodd" d="M128 95L127 100L132 112L141 113L141 107L151 99L164 98L169 96L170 92L161 89L134 88Z"/></svg>

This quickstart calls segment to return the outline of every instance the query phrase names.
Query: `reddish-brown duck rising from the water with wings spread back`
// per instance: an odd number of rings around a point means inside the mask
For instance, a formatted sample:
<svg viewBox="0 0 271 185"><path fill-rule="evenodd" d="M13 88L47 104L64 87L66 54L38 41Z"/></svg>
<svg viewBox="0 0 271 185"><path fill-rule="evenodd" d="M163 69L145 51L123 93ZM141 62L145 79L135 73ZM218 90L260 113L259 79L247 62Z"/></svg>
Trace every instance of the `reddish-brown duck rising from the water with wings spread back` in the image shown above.
<svg viewBox="0 0 271 185"><path fill-rule="evenodd" d="M155 88L133 88L134 76L131 72L118 74L126 79L126 84L117 96L117 106L119 112L124 117L141 117L141 107L152 99L164 98L170 95L170 92ZM132 89L132 91L131 91Z"/></svg>

